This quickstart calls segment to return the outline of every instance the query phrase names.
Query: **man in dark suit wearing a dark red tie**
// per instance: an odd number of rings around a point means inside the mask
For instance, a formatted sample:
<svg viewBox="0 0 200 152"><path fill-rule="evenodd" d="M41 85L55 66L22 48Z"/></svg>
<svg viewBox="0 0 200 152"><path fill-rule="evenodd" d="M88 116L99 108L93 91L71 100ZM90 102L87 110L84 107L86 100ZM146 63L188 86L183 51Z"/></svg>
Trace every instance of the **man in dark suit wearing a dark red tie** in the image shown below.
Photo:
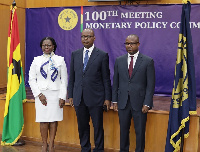
<svg viewBox="0 0 200 152"><path fill-rule="evenodd" d="M128 54L116 59L112 102L120 123L120 152L129 151L129 130L133 117L136 149L144 152L147 112L153 106L155 69L152 58L139 52L139 37L129 35L124 43Z"/></svg>

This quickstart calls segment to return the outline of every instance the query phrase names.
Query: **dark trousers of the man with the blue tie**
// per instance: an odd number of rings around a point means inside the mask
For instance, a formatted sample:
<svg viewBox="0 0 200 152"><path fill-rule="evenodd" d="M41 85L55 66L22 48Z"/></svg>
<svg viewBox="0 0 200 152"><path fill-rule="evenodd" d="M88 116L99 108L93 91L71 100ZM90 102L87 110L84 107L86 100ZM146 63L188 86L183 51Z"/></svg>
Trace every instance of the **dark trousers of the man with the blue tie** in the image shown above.
<svg viewBox="0 0 200 152"><path fill-rule="evenodd" d="M104 151L104 130L103 130L103 108L88 107L82 99L79 106L75 106L78 120L78 131L81 144L81 152L91 152L90 144L90 116L94 127L95 148L93 152Z"/></svg>

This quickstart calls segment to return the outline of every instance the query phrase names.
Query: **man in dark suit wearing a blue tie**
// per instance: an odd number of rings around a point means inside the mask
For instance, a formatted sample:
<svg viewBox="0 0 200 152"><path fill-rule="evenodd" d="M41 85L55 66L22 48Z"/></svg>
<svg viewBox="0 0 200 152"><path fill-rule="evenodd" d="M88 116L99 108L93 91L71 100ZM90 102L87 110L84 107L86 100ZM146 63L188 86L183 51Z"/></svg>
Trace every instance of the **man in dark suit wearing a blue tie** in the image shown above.
<svg viewBox="0 0 200 152"><path fill-rule="evenodd" d="M110 109L112 98L108 53L94 46L95 35L84 29L84 48L72 52L68 97L75 106L82 152L91 151L90 116L94 126L94 152L104 151L103 105Z"/></svg>

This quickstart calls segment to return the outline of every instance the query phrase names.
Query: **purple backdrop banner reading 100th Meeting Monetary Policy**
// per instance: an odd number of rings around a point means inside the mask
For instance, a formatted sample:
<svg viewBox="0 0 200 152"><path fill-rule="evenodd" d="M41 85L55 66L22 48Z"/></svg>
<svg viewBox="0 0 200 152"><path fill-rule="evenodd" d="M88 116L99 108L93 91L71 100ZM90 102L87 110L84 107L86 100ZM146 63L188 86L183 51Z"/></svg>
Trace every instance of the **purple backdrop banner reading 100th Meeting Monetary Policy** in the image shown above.
<svg viewBox="0 0 200 152"><path fill-rule="evenodd" d="M155 94L171 95L178 48L182 5L84 6L26 9L25 83L33 58L42 55L40 40L51 36L56 54L65 57L68 68L71 52L83 47L81 31L95 32L95 46L108 52L111 80L115 59L126 53L128 35L140 38L139 51L155 61ZM200 5L192 5L192 32L197 96L200 97ZM127 69L128 70L128 69Z"/></svg>

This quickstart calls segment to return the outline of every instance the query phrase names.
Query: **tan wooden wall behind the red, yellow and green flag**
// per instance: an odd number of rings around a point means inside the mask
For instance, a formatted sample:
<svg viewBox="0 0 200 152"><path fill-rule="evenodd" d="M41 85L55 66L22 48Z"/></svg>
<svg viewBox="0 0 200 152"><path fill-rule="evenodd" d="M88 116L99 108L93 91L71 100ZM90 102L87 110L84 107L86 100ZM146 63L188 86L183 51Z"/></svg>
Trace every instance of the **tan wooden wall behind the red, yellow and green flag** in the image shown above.
<svg viewBox="0 0 200 152"><path fill-rule="evenodd" d="M24 66L25 59L25 9L17 8L17 18L20 36L20 50L22 56L22 64ZM7 41L8 41L8 27L10 22L10 6L0 4L0 88L7 85Z"/></svg>

